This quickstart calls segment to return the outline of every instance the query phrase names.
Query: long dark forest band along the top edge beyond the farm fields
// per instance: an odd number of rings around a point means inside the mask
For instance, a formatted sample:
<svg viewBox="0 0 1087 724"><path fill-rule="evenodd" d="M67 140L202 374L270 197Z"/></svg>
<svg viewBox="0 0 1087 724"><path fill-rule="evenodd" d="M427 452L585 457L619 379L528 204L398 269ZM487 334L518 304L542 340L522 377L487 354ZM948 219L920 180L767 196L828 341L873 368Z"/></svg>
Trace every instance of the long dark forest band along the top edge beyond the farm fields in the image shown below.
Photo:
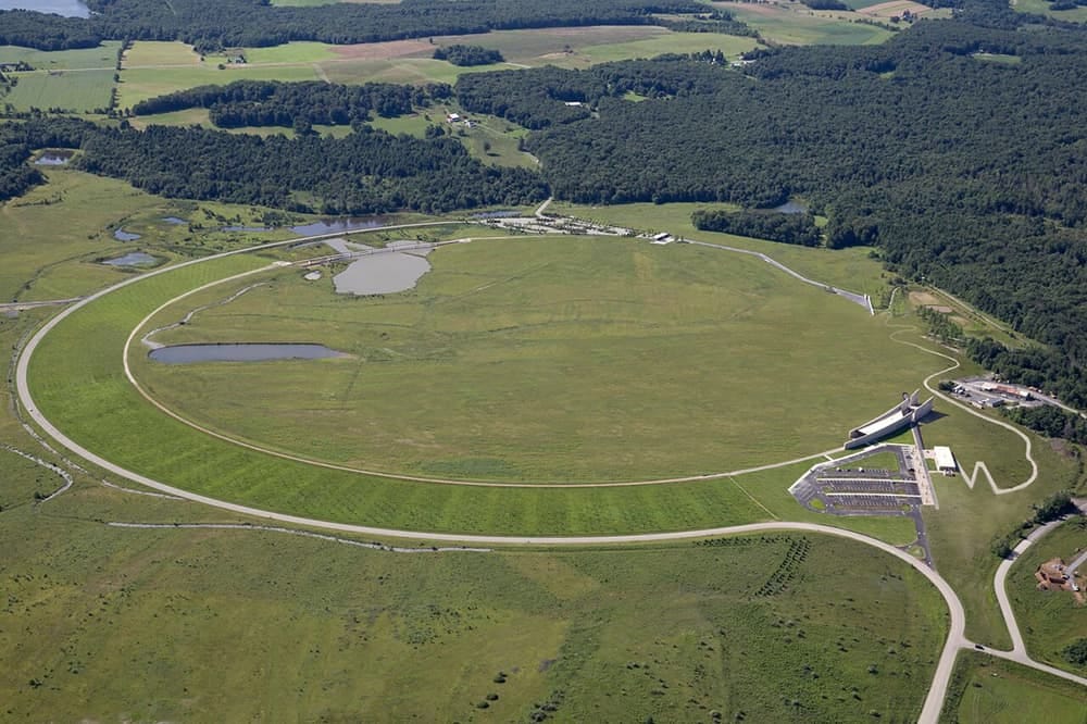
<svg viewBox="0 0 1087 724"><path fill-rule="evenodd" d="M694 0L402 0L316 8L265 0L88 0L87 20L0 11L0 45L60 50L102 40L183 40L200 52L292 40L376 42L435 35L580 25L657 23L654 14L705 13ZM733 21L735 22L735 21Z"/></svg>

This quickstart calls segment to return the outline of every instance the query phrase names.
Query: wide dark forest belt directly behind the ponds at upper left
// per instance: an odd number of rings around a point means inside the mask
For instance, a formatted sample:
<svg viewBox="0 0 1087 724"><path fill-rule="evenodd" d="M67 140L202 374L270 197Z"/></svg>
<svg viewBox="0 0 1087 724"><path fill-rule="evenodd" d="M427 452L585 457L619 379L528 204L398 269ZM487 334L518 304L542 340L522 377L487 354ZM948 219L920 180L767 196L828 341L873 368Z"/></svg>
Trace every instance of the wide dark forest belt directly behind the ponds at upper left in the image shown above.
<svg viewBox="0 0 1087 724"><path fill-rule="evenodd" d="M198 127L140 132L72 118L0 128L0 188L14 192L40 180L23 176L37 174L25 163L32 149L61 147L83 149L73 166L123 178L152 194L292 211L442 212L547 198L538 174L484 165L451 138L392 136L365 126L341 139L261 138Z"/></svg>

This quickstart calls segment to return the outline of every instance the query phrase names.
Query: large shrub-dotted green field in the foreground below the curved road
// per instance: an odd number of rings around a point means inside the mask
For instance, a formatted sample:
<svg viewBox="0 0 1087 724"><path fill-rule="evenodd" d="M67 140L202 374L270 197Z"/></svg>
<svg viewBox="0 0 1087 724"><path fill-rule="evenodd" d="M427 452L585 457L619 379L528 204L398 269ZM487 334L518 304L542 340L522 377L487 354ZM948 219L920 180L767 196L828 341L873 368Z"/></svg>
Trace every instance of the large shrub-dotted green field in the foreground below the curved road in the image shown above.
<svg viewBox="0 0 1087 724"><path fill-rule="evenodd" d="M524 721L550 702L555 721L907 719L946 633L917 574L819 536L408 556L110 528L84 504L140 505L91 500L107 496L0 514L8 717ZM845 597L825 585L844 570Z"/></svg>

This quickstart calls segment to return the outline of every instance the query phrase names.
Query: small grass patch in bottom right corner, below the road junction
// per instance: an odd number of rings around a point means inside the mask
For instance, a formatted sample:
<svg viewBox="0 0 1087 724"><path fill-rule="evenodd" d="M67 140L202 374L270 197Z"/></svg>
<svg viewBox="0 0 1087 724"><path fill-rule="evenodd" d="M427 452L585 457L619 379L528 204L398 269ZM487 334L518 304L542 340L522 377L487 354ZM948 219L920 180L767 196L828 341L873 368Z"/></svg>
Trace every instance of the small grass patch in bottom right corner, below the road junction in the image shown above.
<svg viewBox="0 0 1087 724"><path fill-rule="evenodd" d="M963 651L940 721L960 724L1085 724L1087 695L1082 687L1054 676Z"/></svg>

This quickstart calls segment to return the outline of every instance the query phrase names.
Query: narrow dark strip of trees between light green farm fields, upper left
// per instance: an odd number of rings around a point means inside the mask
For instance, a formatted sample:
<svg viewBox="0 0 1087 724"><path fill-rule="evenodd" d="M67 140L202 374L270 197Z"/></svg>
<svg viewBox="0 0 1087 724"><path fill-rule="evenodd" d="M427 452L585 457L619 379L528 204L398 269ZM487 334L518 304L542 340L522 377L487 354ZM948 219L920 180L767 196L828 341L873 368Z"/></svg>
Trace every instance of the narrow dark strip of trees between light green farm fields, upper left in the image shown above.
<svg viewBox="0 0 1087 724"><path fill-rule="evenodd" d="M350 125L368 121L371 112L395 117L451 95L452 88L446 84L402 86L366 83L345 86L320 80L237 80L227 86L200 86L159 96L137 103L132 111L136 115L150 115L207 108L211 122L222 128L290 128L300 121L311 125Z"/></svg>

